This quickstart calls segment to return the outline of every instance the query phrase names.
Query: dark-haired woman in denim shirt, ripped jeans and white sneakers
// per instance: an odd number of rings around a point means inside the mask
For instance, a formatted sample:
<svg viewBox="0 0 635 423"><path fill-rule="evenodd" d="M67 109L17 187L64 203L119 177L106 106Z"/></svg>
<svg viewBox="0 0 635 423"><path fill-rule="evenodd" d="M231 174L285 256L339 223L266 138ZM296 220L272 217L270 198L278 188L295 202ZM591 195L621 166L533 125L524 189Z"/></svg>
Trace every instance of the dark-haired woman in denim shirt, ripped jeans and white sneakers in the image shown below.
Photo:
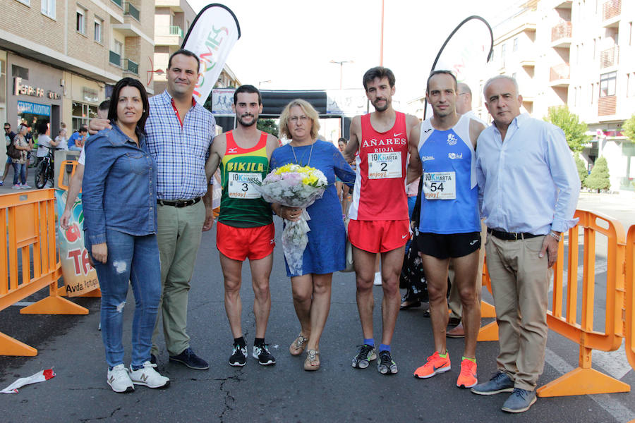
<svg viewBox="0 0 635 423"><path fill-rule="evenodd" d="M112 129L90 137L83 180L87 247L102 289L102 338L115 392L134 384L163 388L169 379L150 363L152 331L161 295L157 243L157 164L143 135L148 116L138 80L116 83L108 118ZM123 364L123 306L130 281L135 295L131 368Z"/></svg>

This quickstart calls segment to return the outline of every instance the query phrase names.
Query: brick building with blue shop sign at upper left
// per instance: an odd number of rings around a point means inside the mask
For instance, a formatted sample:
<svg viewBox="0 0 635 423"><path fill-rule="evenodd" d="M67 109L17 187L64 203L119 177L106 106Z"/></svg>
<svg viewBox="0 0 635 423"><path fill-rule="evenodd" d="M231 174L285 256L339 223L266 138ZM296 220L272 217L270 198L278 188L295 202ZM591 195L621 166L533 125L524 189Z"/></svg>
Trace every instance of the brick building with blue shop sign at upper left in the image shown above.
<svg viewBox="0 0 635 423"><path fill-rule="evenodd" d="M145 78L154 43L149 0L5 0L3 6L0 118L13 128L47 121L54 137L63 122L70 133L95 116L124 76L153 93Z"/></svg>

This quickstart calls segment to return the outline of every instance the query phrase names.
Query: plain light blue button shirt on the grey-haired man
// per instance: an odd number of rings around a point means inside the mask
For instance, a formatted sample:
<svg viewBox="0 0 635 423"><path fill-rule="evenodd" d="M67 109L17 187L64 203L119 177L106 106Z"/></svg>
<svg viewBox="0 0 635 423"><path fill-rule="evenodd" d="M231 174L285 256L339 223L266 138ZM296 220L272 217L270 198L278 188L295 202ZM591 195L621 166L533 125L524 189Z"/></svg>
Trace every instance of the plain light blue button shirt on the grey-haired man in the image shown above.
<svg viewBox="0 0 635 423"><path fill-rule="evenodd" d="M580 178L564 133L557 126L516 116L505 140L492 124L476 144L478 200L488 228L545 235L567 231Z"/></svg>

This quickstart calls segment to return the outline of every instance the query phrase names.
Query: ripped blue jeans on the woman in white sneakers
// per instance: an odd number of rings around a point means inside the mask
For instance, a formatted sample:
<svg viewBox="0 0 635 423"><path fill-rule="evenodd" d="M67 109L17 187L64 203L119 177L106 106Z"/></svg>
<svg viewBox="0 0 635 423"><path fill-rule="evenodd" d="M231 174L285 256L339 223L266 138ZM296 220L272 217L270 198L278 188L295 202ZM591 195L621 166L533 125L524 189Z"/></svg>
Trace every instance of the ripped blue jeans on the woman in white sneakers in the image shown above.
<svg viewBox="0 0 635 423"><path fill-rule="evenodd" d="M123 363L123 307L128 280L135 295L132 326L132 360L141 367L150 360L152 330L161 295L161 266L157 235L135 236L106 229L107 262L93 257L102 290L102 339L109 367Z"/></svg>

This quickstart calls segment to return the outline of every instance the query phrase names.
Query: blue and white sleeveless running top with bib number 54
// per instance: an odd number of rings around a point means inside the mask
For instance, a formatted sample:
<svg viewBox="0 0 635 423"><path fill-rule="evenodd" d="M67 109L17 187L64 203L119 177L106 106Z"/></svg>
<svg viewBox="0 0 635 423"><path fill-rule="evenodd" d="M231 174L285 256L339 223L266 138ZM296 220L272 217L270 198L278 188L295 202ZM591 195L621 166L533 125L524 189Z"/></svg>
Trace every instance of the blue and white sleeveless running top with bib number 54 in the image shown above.
<svg viewBox="0 0 635 423"><path fill-rule="evenodd" d="M480 232L476 154L470 141L470 121L469 116L463 115L449 130L434 129L430 119L421 123L420 232Z"/></svg>

